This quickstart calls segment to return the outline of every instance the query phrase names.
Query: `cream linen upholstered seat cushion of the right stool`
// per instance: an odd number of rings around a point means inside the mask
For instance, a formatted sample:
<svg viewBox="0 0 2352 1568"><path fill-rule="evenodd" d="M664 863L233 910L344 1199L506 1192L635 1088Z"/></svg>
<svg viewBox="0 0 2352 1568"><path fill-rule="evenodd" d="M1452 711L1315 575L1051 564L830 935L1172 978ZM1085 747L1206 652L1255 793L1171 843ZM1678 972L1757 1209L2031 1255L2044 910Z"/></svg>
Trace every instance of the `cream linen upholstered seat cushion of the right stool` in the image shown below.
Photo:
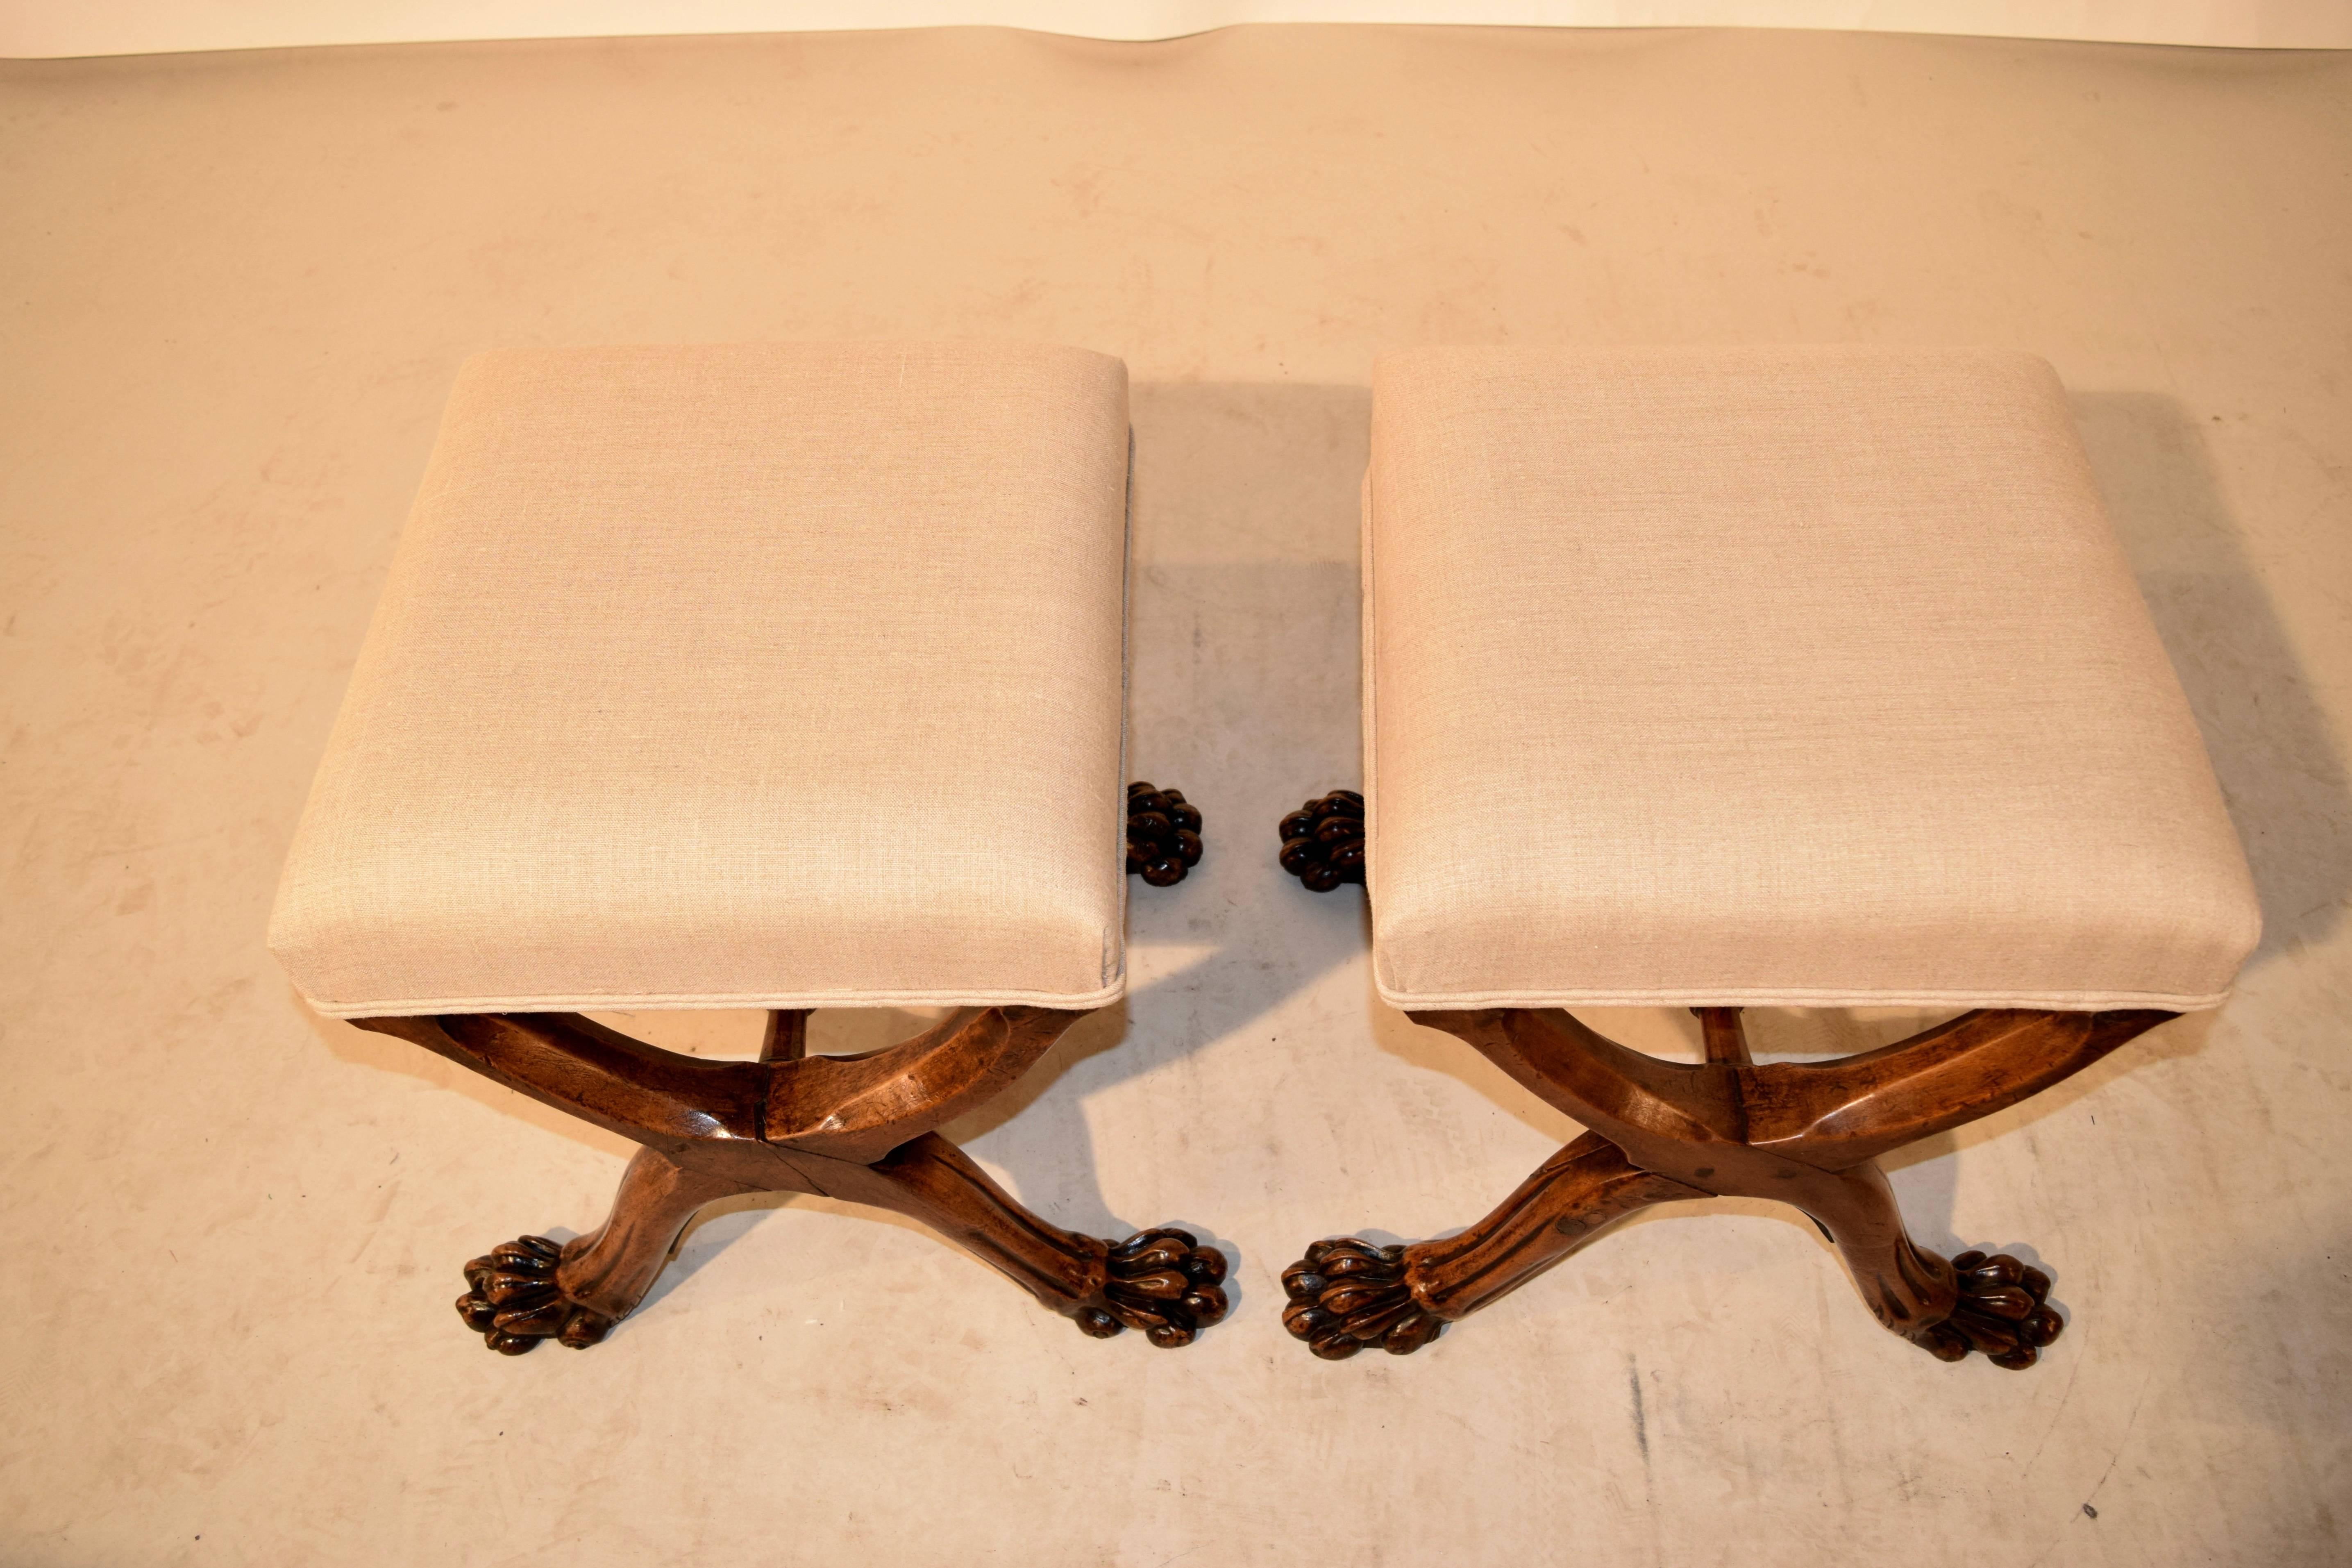
<svg viewBox="0 0 2352 1568"><path fill-rule="evenodd" d="M2042 360L1390 355L1397 1006L2216 1006L2244 853Z"/></svg>

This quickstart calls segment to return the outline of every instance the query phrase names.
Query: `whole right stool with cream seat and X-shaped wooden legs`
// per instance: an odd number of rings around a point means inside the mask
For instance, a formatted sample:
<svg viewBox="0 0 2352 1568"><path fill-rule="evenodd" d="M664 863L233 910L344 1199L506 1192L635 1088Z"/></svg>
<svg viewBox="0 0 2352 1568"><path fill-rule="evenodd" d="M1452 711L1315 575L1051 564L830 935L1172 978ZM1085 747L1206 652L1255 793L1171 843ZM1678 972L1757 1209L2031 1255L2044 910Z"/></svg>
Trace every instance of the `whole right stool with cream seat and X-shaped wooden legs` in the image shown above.
<svg viewBox="0 0 2352 1568"><path fill-rule="evenodd" d="M1446 1241L1289 1269L1322 1356L1409 1352L1651 1204L1806 1211L1886 1328L2030 1366L2049 1279L1903 1232L1877 1157L2218 1006L2246 863L2016 353L1418 350L1374 386L1364 879L1381 997L1590 1131ZM1740 1009L1966 1009L1823 1065ZM1573 1006L1689 1006L1705 1063Z"/></svg>

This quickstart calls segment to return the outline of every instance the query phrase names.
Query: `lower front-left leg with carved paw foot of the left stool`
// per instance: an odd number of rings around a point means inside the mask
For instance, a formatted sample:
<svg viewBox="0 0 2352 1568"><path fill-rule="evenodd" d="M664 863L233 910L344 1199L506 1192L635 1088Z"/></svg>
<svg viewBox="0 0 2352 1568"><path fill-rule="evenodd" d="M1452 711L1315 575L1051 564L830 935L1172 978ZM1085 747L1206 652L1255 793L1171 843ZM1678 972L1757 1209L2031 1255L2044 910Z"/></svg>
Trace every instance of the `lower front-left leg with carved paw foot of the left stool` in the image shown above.
<svg viewBox="0 0 2352 1568"><path fill-rule="evenodd" d="M541 1340L586 1349L654 1288L694 1211L739 1192L760 1187L689 1171L661 1150L640 1147L595 1234L564 1246L546 1237L501 1241L466 1265L468 1288L456 1312L508 1356Z"/></svg>

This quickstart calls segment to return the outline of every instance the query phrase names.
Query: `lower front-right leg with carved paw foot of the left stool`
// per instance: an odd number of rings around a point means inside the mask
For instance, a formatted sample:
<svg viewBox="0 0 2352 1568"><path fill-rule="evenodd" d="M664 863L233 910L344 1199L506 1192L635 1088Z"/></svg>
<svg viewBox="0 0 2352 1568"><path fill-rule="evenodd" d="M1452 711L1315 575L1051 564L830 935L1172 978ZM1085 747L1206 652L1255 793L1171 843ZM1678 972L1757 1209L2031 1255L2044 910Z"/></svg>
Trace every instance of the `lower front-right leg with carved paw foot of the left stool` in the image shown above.
<svg viewBox="0 0 2352 1568"><path fill-rule="evenodd" d="M1183 1229L1098 1241L1049 1225L938 1133L870 1166L802 1164L814 1190L917 1220L1096 1340L1136 1328L1174 1349L1225 1316L1225 1255L1214 1246Z"/></svg>

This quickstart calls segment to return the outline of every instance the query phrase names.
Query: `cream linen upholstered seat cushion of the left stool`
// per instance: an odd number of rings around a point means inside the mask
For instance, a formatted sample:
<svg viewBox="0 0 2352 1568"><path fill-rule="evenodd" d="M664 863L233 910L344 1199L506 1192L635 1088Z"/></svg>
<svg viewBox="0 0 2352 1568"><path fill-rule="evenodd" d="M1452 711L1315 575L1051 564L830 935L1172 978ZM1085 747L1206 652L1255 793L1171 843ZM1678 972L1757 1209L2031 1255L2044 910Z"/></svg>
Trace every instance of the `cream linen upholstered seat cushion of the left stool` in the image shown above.
<svg viewBox="0 0 2352 1568"><path fill-rule="evenodd" d="M322 1013L1110 1001L1127 367L459 374L270 947Z"/></svg>

